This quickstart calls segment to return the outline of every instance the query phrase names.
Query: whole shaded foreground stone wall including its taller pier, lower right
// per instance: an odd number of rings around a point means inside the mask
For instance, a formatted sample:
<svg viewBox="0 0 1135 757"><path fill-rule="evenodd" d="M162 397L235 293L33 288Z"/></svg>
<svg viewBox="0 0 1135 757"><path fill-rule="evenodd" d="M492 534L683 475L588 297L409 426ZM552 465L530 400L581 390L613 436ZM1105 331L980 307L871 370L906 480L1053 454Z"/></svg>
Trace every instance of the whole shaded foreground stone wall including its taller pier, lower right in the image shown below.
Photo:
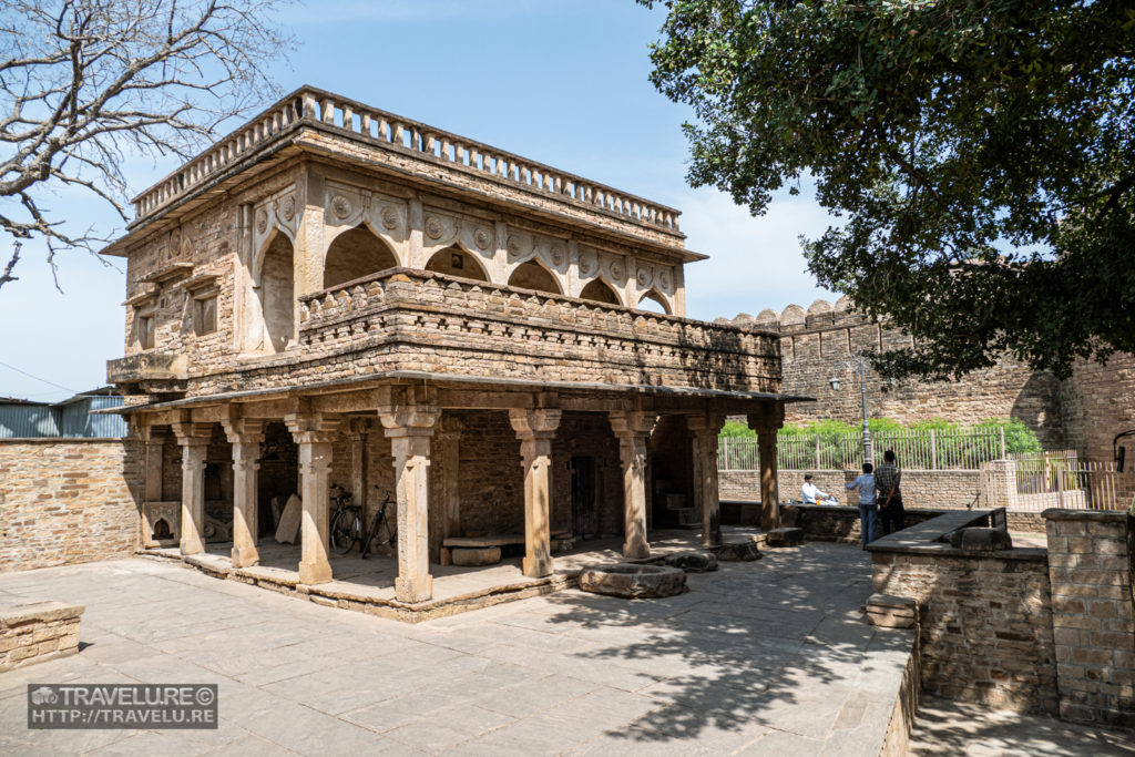
<svg viewBox="0 0 1135 757"><path fill-rule="evenodd" d="M926 691L1135 727L1135 519L1043 518L1046 549L939 541L972 524L959 512L880 539L868 547L873 588L918 603Z"/></svg>

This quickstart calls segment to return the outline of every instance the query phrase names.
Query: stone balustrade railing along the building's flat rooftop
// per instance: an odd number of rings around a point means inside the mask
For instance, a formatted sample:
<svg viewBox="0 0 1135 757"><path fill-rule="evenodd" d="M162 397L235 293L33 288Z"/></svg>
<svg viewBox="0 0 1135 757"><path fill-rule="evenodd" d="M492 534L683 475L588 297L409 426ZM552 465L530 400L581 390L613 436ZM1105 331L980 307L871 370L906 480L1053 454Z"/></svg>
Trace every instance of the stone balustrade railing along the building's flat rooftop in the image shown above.
<svg viewBox="0 0 1135 757"><path fill-rule="evenodd" d="M135 222L305 124L336 127L370 144L462 167L560 201L598 208L634 222L679 233L680 212L673 208L312 87L289 94L135 197Z"/></svg>

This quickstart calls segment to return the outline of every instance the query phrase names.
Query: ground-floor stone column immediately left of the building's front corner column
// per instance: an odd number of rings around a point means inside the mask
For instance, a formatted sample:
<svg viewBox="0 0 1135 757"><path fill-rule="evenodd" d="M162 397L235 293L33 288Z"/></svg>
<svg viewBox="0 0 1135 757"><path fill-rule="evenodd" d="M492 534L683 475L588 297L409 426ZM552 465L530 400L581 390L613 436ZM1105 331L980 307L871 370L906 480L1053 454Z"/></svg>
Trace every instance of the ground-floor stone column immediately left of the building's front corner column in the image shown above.
<svg viewBox="0 0 1135 757"><path fill-rule="evenodd" d="M301 583L326 583L331 580L330 493L331 440L339 419L321 413L285 417L292 437L300 447L300 497L303 501L300 560Z"/></svg>

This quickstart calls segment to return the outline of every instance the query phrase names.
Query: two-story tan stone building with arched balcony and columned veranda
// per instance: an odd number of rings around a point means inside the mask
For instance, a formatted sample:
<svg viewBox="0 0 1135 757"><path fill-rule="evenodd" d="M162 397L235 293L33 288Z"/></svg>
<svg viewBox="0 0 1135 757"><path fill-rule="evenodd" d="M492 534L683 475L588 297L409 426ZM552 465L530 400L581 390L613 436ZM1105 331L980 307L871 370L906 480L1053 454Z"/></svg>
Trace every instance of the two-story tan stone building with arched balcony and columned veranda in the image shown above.
<svg viewBox="0 0 1135 757"><path fill-rule="evenodd" d="M309 87L135 205L107 250L128 280L109 378L150 542L200 553L216 519L252 565L267 503L297 491L318 584L329 485L368 513L392 490L411 604L462 533L522 532L529 577L556 531L641 557L696 513L714 542L726 413L760 434L775 521L777 337L684 318L704 256L676 210Z"/></svg>

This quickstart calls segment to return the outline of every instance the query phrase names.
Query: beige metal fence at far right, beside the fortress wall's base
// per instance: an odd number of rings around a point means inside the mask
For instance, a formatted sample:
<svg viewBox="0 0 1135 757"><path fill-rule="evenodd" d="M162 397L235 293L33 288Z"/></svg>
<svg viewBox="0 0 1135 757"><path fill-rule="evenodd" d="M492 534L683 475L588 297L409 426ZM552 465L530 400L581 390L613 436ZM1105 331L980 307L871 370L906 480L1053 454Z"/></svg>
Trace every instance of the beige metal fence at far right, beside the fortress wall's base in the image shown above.
<svg viewBox="0 0 1135 757"><path fill-rule="evenodd" d="M1079 460L1074 451L1010 455L982 465L987 507L1040 512L1048 507L1126 510L1111 462Z"/></svg>

